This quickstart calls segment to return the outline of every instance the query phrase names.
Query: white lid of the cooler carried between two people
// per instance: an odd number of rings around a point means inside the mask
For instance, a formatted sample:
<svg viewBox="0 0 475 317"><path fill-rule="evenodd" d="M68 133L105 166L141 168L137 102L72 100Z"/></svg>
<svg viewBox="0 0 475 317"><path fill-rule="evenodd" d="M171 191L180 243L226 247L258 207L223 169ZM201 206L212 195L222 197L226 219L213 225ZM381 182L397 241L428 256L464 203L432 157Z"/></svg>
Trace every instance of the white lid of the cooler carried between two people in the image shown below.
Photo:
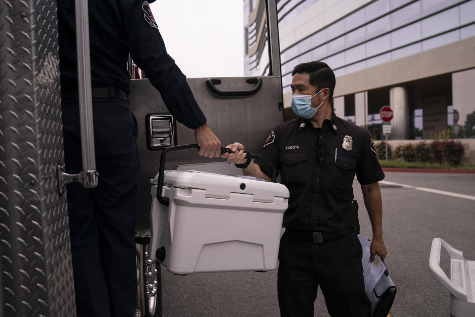
<svg viewBox="0 0 475 317"><path fill-rule="evenodd" d="M158 174L153 179L157 184ZM203 189L205 197L229 199L231 193L253 195L252 200L273 202L274 197L288 198L287 187L279 183L244 175L221 175L195 170L165 170L164 186Z"/></svg>

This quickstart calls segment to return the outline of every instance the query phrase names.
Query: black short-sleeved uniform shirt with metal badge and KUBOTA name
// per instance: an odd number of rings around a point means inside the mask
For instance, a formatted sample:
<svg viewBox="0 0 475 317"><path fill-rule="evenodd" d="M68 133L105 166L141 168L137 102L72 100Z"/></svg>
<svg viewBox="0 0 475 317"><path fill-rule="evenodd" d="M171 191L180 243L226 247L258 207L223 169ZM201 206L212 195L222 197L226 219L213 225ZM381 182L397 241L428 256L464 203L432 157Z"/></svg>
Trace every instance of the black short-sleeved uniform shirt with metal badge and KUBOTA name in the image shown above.
<svg viewBox="0 0 475 317"><path fill-rule="evenodd" d="M384 178L368 132L334 113L320 129L303 118L278 125L264 144L262 156L275 164L290 192L283 226L294 229L335 232L350 228L357 221L351 206L355 174L363 185ZM262 161L255 162L271 175Z"/></svg>

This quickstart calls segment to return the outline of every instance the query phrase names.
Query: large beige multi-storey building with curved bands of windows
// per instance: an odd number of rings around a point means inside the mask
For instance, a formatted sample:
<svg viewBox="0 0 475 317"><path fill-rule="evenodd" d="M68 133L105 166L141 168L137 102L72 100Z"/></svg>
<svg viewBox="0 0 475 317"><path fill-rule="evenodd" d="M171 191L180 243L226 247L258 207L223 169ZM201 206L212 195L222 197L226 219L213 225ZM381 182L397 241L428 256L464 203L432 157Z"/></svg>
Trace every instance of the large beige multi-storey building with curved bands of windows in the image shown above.
<svg viewBox="0 0 475 317"><path fill-rule="evenodd" d="M245 75L264 75L265 1L243 3ZM337 116L380 126L380 108L390 106L390 139L447 127L475 137L464 127L475 116L475 0L277 0L277 8L286 117L293 67L322 60L336 75Z"/></svg>

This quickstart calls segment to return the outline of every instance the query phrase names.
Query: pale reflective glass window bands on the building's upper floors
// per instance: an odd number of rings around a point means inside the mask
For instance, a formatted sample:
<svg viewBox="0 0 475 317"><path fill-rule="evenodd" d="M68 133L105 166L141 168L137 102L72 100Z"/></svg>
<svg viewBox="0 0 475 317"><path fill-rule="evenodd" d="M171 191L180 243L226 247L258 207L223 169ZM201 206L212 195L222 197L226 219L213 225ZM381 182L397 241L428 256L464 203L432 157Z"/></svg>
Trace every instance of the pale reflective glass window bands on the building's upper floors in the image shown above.
<svg viewBox="0 0 475 317"><path fill-rule="evenodd" d="M244 3L250 10L259 1ZM318 1L278 0L279 25ZM301 62L326 61L341 76L475 36L474 12L475 0L371 1L281 51L284 90ZM263 40L257 39L258 29L256 23L248 27L249 47ZM265 71L267 55L262 48L249 56L248 74Z"/></svg>

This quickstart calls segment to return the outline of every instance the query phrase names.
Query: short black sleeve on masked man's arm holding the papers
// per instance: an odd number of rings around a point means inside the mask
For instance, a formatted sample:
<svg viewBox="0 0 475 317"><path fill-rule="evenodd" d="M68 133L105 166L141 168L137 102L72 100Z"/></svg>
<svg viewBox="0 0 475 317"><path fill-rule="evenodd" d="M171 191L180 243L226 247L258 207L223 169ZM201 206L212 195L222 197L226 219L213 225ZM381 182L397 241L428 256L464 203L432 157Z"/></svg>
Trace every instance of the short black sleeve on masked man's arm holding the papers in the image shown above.
<svg viewBox="0 0 475 317"><path fill-rule="evenodd" d="M356 166L356 178L361 185L368 185L384 179L384 173L378 161L373 141L367 131L365 131L363 139L361 155Z"/></svg>

